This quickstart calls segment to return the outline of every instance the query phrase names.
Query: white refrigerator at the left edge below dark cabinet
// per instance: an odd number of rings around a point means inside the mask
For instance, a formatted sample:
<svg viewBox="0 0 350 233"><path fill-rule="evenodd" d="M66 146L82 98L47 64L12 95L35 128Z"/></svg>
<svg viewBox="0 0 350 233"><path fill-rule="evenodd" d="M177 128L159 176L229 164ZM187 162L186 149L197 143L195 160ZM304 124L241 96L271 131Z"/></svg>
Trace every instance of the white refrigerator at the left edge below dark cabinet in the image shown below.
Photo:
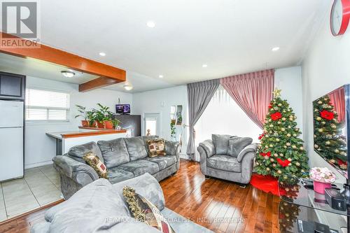
<svg viewBox="0 0 350 233"><path fill-rule="evenodd" d="M0 100L0 181L24 176L23 101Z"/></svg>

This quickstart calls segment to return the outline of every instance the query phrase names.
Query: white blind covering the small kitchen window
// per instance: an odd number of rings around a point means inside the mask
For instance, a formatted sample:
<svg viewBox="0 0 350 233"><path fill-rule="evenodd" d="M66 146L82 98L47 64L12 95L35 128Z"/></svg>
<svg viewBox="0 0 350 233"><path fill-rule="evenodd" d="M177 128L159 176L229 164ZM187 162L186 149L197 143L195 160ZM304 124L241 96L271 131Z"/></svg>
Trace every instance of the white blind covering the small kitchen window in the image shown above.
<svg viewBox="0 0 350 233"><path fill-rule="evenodd" d="M68 93L27 89L25 102L26 120L68 120Z"/></svg>

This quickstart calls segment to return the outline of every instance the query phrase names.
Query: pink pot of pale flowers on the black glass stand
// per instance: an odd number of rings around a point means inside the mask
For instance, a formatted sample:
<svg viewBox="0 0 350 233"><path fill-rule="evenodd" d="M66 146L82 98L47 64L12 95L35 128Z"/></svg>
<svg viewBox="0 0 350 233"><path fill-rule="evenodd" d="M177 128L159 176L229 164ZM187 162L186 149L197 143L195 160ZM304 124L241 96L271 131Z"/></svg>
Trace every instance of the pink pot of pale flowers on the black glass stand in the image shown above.
<svg viewBox="0 0 350 233"><path fill-rule="evenodd" d="M331 188L337 176L326 167L314 167L310 170L310 178L314 180L314 191L325 194L325 188Z"/></svg>

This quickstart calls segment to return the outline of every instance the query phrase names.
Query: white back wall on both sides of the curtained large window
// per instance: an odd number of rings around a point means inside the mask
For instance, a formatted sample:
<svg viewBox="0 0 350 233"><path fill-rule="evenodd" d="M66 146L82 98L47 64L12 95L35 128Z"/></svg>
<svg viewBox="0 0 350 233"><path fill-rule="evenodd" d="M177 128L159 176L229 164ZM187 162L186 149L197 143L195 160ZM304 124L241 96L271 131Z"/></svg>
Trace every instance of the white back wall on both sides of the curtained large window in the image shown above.
<svg viewBox="0 0 350 233"><path fill-rule="evenodd" d="M275 86L282 89L282 97L287 99L290 106L297 115L297 125L302 129L302 82L301 67L289 67L285 69L276 69ZM161 90L153 90L133 94L132 109L135 114L144 113L161 113L161 132L160 136L170 139L170 106L183 105L184 122L188 125L188 104L187 104L187 87L186 85L169 87ZM216 120L221 120L220 113L217 114ZM188 128L183 130L183 153L187 148ZM258 137L258 135L256 136Z"/></svg>

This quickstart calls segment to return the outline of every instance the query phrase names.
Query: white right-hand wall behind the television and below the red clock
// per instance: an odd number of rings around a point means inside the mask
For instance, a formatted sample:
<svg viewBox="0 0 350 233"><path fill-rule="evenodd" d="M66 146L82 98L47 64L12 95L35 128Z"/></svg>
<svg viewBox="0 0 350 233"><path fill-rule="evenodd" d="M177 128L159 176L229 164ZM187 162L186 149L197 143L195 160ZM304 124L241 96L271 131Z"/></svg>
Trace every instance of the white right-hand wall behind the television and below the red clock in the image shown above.
<svg viewBox="0 0 350 233"><path fill-rule="evenodd" d="M314 152L311 102L341 85L350 83L350 28L342 36L332 36L329 15L330 8L302 62L304 140L312 167L330 165Z"/></svg>

